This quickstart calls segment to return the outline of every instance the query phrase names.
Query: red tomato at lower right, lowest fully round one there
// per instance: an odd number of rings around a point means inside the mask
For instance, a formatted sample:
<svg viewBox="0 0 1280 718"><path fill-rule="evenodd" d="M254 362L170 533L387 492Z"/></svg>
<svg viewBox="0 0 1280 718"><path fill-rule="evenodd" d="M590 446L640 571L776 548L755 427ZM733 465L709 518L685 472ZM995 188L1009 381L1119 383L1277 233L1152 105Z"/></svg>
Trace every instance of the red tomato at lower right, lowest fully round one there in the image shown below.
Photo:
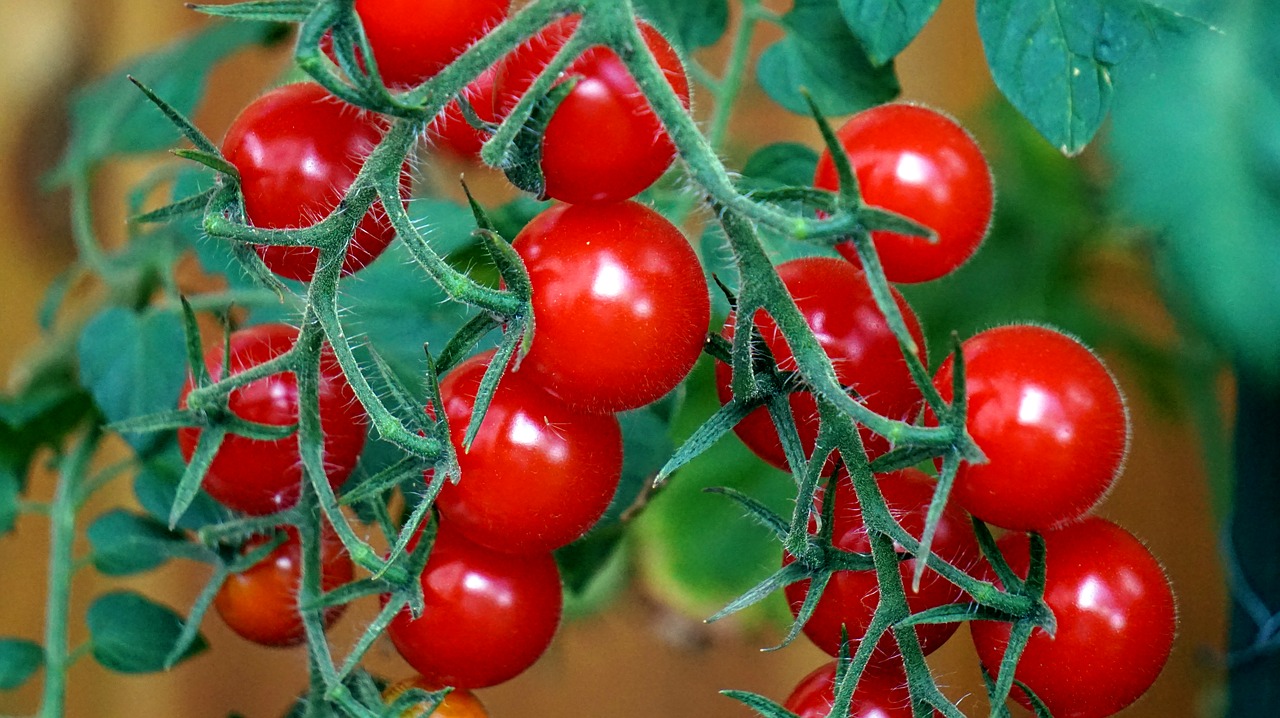
<svg viewBox="0 0 1280 718"><path fill-rule="evenodd" d="M1135 701L1156 681L1172 648L1176 607L1164 568L1132 534L1088 517L1043 534L1044 602L1057 632L1032 634L1015 677L1055 718L1103 718ZM1000 549L1025 577L1025 534L1009 534ZM978 658L996 671L1009 644L1009 623L972 623ZM1025 695L1019 701L1027 703Z"/></svg>

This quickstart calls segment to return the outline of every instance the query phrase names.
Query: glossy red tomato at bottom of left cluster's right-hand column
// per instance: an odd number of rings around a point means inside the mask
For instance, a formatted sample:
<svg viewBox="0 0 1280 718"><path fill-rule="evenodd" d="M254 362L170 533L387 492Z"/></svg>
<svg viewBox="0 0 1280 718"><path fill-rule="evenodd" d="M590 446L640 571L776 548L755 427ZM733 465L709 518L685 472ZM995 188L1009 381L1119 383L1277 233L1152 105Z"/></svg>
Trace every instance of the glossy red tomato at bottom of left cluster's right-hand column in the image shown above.
<svg viewBox="0 0 1280 718"><path fill-rule="evenodd" d="M422 570L422 616L408 607L387 635L424 680L483 689L515 678L559 625L559 570L549 553L511 555L466 540L444 520Z"/></svg>

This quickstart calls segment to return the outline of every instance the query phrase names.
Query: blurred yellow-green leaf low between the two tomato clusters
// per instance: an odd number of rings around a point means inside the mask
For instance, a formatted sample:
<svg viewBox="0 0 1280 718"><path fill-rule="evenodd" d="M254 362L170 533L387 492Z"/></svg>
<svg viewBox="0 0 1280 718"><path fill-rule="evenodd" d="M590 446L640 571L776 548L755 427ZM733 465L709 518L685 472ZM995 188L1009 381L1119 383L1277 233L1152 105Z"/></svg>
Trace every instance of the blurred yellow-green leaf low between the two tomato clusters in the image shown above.
<svg viewBox="0 0 1280 718"><path fill-rule="evenodd" d="M710 362L701 361L689 379L686 401L672 420L680 439L719 406L710 370ZM767 529L724 497L704 493L709 486L731 486L783 515L795 500L791 480L731 435L681 468L653 498L632 534L641 575L655 595L696 618L772 575L782 558ZM778 596L744 616L780 623L791 617Z"/></svg>

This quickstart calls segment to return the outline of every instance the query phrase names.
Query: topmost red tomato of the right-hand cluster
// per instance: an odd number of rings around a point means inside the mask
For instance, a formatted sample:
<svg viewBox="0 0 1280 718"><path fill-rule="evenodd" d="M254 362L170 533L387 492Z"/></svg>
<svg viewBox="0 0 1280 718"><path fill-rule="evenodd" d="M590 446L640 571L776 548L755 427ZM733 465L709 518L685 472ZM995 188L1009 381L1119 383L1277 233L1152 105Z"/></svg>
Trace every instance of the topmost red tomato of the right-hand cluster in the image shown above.
<svg viewBox="0 0 1280 718"><path fill-rule="evenodd" d="M995 206L991 168L973 137L951 118L919 105L864 110L836 132L868 205L929 227L937 243L892 232L872 241L890 282L928 282L963 265L982 244ZM840 178L823 151L813 180L837 189ZM859 262L851 242L836 247Z"/></svg>

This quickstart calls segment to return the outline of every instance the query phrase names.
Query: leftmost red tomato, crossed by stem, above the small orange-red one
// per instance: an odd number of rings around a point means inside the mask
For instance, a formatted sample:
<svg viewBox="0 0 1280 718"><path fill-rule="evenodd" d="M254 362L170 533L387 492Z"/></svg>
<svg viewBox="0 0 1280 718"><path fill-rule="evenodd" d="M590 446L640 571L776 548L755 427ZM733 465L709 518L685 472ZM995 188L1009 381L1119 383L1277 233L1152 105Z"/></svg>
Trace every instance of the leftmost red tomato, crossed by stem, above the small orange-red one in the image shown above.
<svg viewBox="0 0 1280 718"><path fill-rule="evenodd" d="M261 324L230 335L230 372L270 361L297 342L297 328ZM205 366L216 381L224 376L223 346L205 353ZM188 378L179 406L187 406L193 388ZM320 355L320 427L324 430L324 461L329 484L335 489L347 480L365 448L369 417L347 384L337 357L328 347ZM288 425L298 421L298 385L292 372L273 374L232 392L228 408L247 421ZM191 461L200 429L178 430L178 447ZM274 442L228 434L218 448L204 488L223 506L251 515L275 513L298 500L302 459L296 435Z"/></svg>

